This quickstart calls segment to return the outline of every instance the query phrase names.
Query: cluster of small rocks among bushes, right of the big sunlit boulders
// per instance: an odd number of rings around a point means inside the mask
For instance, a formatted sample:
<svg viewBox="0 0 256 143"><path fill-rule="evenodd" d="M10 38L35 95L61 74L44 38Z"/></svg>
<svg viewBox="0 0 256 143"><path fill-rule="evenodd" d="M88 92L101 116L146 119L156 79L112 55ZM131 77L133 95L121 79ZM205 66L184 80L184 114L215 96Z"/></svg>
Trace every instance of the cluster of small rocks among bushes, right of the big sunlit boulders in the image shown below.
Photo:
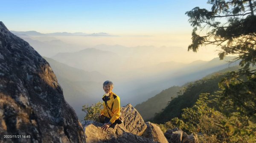
<svg viewBox="0 0 256 143"><path fill-rule="evenodd" d="M168 129L164 133L169 143L198 143L197 135L187 135L181 129Z"/></svg>

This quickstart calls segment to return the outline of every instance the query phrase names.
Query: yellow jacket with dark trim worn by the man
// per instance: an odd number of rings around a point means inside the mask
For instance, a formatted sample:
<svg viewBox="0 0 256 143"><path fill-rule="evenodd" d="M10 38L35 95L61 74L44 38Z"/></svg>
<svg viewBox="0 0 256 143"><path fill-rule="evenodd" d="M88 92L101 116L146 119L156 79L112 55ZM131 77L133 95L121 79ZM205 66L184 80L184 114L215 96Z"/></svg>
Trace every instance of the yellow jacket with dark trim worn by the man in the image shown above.
<svg viewBox="0 0 256 143"><path fill-rule="evenodd" d="M105 117L108 117L108 118L112 117L110 119L110 122L114 123L116 119L118 119L120 116L120 98L115 93L113 92L111 93L110 99L107 101L107 104L108 104L108 107L112 109L112 112L105 105L105 95L103 95L102 100L104 101L103 103L104 109L102 109L102 111L100 112L101 115L104 115ZM111 115L111 117L109 117L108 113Z"/></svg>

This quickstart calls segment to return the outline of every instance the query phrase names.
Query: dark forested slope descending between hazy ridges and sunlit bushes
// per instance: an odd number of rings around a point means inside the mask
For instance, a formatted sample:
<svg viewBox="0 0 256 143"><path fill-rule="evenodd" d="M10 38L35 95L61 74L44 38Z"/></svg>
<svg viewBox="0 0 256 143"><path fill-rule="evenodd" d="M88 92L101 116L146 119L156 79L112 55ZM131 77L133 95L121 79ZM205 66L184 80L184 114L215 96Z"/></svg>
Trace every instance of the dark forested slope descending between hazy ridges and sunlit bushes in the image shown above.
<svg viewBox="0 0 256 143"><path fill-rule="evenodd" d="M238 70L239 66L229 67L224 70L212 73L205 78L191 82L183 88L183 93L172 99L162 112L155 115L155 123L164 123L175 117L181 117L182 109L192 107L198 100L201 93L213 94L219 90L218 83L227 76L225 72Z"/></svg>

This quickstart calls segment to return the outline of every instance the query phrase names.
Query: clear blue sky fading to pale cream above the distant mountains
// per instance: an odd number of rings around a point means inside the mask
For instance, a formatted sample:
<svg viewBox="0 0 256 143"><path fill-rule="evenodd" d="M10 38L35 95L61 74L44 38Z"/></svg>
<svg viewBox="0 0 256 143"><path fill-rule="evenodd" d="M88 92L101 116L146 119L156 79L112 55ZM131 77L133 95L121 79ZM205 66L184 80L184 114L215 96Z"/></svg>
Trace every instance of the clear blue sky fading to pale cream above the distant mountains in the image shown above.
<svg viewBox="0 0 256 143"><path fill-rule="evenodd" d="M1 0L1 21L13 31L170 34L189 31L186 11L207 0Z"/></svg>

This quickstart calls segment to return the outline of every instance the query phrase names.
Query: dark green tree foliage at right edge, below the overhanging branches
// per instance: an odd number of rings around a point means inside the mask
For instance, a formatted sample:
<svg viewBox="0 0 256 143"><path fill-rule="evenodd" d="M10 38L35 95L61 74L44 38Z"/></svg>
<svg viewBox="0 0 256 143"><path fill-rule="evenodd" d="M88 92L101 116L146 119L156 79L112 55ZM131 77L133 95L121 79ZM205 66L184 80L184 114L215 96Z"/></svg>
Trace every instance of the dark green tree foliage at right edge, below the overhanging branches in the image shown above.
<svg viewBox="0 0 256 143"><path fill-rule="evenodd" d="M256 115L256 77L247 76L246 80L232 72L233 78L224 78L220 87L224 90L221 93L221 103L227 104L240 112L241 115L249 118Z"/></svg>

